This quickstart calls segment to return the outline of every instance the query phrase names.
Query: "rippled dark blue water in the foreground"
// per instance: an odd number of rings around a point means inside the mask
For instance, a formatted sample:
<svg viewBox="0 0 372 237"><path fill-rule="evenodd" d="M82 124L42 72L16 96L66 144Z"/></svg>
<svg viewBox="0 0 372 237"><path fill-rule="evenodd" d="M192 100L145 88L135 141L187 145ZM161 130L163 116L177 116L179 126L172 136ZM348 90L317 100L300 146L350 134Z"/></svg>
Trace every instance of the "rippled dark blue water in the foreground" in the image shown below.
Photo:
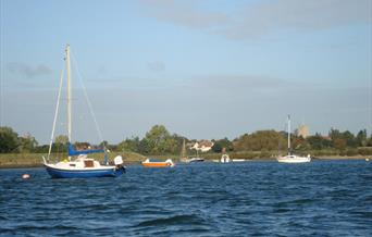
<svg viewBox="0 0 372 237"><path fill-rule="evenodd" d="M0 235L372 236L372 162L129 166L92 179L0 170Z"/></svg>

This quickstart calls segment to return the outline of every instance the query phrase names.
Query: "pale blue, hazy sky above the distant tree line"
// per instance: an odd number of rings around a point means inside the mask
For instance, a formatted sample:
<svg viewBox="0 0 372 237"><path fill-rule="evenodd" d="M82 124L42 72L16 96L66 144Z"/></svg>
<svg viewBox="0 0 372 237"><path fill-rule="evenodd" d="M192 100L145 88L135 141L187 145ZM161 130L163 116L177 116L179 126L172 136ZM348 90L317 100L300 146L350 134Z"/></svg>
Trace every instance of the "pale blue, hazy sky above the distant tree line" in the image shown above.
<svg viewBox="0 0 372 237"><path fill-rule="evenodd" d="M283 130L287 114L311 134L372 132L372 0L0 0L0 125L39 144L66 43L74 141L156 124L233 139Z"/></svg>

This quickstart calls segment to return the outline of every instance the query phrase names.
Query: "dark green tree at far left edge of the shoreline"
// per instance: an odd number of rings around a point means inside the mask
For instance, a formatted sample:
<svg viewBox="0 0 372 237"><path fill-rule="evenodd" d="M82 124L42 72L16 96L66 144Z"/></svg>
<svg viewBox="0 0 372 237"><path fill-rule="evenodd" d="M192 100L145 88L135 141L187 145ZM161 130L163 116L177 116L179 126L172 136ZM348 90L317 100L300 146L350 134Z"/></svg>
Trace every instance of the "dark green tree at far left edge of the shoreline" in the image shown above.
<svg viewBox="0 0 372 237"><path fill-rule="evenodd" d="M11 127L0 127L0 153L18 152L18 135Z"/></svg>

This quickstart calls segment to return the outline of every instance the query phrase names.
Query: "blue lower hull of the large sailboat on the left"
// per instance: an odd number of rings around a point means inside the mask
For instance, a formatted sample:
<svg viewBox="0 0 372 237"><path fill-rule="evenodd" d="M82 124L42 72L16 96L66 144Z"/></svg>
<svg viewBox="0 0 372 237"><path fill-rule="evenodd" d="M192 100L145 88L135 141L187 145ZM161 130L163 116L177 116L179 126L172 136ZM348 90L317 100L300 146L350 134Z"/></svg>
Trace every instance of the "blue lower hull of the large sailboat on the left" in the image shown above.
<svg viewBox="0 0 372 237"><path fill-rule="evenodd" d="M47 166L47 172L52 178L89 178L89 177L116 177L125 172L125 169L106 169L89 171L65 171Z"/></svg>

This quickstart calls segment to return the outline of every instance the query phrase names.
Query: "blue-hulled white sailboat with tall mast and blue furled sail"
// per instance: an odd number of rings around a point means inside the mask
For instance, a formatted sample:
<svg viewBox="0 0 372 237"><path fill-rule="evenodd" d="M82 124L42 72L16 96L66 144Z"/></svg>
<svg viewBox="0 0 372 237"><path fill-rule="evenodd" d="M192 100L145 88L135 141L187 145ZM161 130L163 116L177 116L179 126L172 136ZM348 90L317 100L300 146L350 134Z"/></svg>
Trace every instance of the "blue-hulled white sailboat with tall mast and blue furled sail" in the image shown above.
<svg viewBox="0 0 372 237"><path fill-rule="evenodd" d="M61 90L63 85L63 73L60 79L52 134L49 144L48 157L42 157L44 166L52 178L87 178L87 177L116 177L125 173L123 159L121 155L114 158L114 165L109 165L107 149L76 150L72 145L72 100L71 100L71 76L70 76L70 46L65 49L65 66L67 72L67 158L52 163L50 161L51 147L53 142L55 122L58 117ZM88 158L89 153L104 153L104 164L100 164L95 159Z"/></svg>

